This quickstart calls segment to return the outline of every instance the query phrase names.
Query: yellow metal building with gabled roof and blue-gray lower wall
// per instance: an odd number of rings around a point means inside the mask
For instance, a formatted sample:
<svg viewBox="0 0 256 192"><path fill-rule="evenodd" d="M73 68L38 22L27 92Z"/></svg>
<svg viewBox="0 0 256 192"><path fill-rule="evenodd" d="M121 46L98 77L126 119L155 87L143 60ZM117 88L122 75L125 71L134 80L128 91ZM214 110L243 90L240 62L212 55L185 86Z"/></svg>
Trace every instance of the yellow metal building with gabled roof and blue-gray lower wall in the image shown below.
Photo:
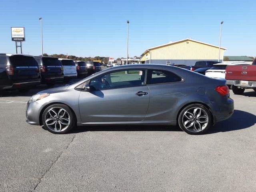
<svg viewBox="0 0 256 192"><path fill-rule="evenodd" d="M224 50L220 48L220 62ZM194 65L196 61L218 61L219 46L184 39L147 49L141 55L140 63Z"/></svg>

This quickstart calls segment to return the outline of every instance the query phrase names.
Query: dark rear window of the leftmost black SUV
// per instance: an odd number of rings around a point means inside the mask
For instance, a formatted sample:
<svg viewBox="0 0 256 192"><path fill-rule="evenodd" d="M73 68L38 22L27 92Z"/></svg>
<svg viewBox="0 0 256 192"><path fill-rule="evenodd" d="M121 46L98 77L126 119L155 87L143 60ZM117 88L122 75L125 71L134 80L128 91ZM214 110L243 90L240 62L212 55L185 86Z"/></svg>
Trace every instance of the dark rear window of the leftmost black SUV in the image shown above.
<svg viewBox="0 0 256 192"><path fill-rule="evenodd" d="M38 66L33 57L14 55L10 56L10 62L13 66Z"/></svg>

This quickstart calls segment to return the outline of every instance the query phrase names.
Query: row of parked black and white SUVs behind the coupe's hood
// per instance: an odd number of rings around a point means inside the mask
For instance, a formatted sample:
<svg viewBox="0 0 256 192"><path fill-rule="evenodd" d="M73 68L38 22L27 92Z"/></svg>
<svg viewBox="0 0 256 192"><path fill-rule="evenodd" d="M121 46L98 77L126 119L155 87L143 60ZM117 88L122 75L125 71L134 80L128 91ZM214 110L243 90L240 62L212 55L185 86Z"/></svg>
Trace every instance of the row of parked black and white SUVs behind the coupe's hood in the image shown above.
<svg viewBox="0 0 256 192"><path fill-rule="evenodd" d="M39 84L54 85L86 77L101 70L101 64L24 54L0 54L0 90L25 92Z"/></svg>

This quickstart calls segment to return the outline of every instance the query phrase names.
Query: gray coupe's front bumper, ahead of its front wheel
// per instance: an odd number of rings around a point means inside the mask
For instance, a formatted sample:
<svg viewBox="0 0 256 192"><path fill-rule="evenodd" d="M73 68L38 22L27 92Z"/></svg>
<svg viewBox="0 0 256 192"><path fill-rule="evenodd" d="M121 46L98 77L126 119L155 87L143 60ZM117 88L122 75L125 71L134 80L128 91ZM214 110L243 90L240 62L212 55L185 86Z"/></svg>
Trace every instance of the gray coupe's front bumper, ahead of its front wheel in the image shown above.
<svg viewBox="0 0 256 192"><path fill-rule="evenodd" d="M38 102L27 103L26 122L32 125L40 125L40 112L42 105Z"/></svg>

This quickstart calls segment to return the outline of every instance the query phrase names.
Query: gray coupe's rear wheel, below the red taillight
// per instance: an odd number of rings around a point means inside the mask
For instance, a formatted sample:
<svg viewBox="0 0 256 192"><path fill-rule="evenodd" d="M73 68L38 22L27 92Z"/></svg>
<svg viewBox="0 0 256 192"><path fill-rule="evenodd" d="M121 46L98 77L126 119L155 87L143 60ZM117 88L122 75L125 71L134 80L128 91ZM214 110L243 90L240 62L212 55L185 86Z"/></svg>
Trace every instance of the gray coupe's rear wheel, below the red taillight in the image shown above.
<svg viewBox="0 0 256 192"><path fill-rule="evenodd" d="M196 109L196 108L200 109L200 116L198 116L199 110L196 110L196 112L195 112L196 117L194 117L193 112L194 112L194 109ZM193 111L193 112L190 113L190 111ZM186 116L188 116L188 118ZM203 123L200 124L198 121L203 122ZM188 124L188 123L190 123L190 124L188 125L188 127L186 127L185 124ZM206 108L202 104L191 104L181 110L181 112L178 116L178 125L184 132L186 132L188 134L191 134L191 135L204 134L213 125L212 114L208 110L208 108Z"/></svg>

